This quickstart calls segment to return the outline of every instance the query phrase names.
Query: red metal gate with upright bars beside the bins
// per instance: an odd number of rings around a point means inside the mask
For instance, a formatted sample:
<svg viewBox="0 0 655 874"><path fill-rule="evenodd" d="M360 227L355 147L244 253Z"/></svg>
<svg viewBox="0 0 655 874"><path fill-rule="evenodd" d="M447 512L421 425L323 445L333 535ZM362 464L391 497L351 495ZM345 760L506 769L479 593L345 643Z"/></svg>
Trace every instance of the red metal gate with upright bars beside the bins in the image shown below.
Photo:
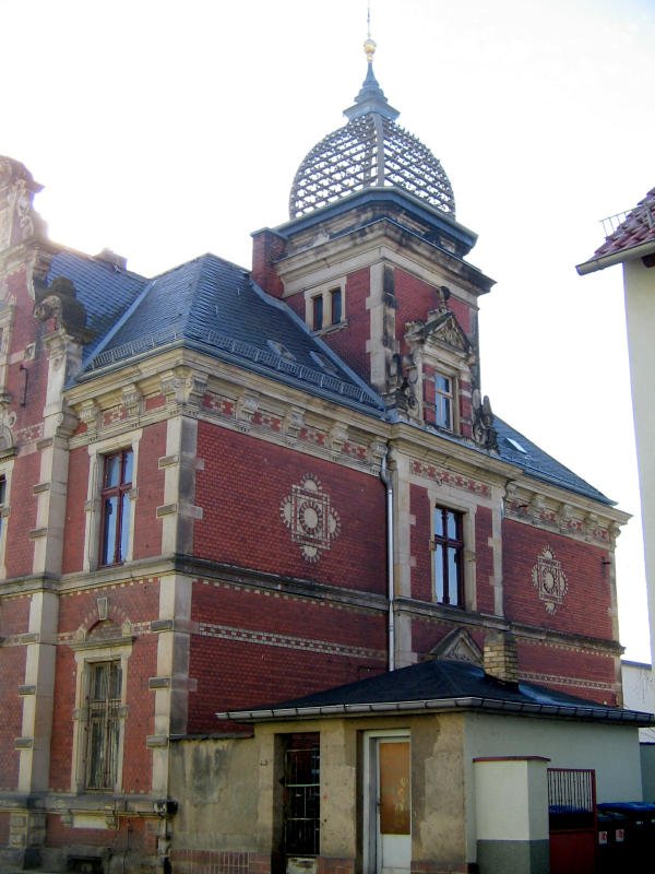
<svg viewBox="0 0 655 874"><path fill-rule="evenodd" d="M548 768L550 874L596 871L596 771Z"/></svg>

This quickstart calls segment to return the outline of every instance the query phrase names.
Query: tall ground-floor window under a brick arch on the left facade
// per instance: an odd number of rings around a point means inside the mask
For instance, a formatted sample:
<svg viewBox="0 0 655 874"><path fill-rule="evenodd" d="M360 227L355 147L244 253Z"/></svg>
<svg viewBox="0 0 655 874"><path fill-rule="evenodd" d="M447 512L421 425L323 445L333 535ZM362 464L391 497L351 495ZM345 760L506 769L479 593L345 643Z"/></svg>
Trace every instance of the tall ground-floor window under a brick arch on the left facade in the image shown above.
<svg viewBox="0 0 655 874"><path fill-rule="evenodd" d="M115 789L120 748L120 660L91 663L88 671L86 788Z"/></svg>

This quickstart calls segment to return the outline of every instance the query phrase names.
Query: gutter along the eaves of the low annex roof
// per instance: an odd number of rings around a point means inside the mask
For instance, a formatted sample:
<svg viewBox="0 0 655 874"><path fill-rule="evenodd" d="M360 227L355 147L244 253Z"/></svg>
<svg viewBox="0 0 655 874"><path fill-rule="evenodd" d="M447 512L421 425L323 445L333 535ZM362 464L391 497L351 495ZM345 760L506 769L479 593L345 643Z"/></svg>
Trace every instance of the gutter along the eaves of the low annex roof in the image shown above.
<svg viewBox="0 0 655 874"><path fill-rule="evenodd" d="M426 711L487 710L492 713L558 717L560 719L584 719L603 722L655 725L655 716L638 710L621 710L612 707L584 707L555 704L529 704L504 701L497 698L434 698L420 701L379 701L372 704L335 704L314 707L279 707L265 710L231 710L216 713L221 720L235 722L270 722L272 720L315 719L321 717L376 716L378 713L416 714Z"/></svg>

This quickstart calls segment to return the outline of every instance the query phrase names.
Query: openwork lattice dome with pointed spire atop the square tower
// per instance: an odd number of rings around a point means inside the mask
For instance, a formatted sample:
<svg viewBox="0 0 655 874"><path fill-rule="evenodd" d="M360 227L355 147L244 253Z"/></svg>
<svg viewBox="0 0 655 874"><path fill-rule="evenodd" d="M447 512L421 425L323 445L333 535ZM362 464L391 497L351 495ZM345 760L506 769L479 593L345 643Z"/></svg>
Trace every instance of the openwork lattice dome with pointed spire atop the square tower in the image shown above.
<svg viewBox="0 0 655 874"><path fill-rule="evenodd" d="M300 164L289 198L297 218L366 188L395 186L455 217L450 180L420 140L395 123L373 73L376 44L364 44L368 70L355 104L344 111L348 123L329 133Z"/></svg>

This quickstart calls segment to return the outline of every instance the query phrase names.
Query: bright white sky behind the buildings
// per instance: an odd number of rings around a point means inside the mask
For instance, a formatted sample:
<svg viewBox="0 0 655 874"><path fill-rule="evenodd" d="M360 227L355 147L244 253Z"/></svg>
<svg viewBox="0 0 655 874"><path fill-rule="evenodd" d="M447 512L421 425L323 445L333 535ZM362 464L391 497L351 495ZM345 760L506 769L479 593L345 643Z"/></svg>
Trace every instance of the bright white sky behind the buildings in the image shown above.
<svg viewBox="0 0 655 874"><path fill-rule="evenodd" d="M495 411L636 513L620 268L579 277L598 220L653 178L653 0L371 0L374 70L440 158L481 303ZM366 73L366 0L0 0L0 154L50 236L153 274L250 267L307 151ZM641 531L619 540L621 639L648 659Z"/></svg>

